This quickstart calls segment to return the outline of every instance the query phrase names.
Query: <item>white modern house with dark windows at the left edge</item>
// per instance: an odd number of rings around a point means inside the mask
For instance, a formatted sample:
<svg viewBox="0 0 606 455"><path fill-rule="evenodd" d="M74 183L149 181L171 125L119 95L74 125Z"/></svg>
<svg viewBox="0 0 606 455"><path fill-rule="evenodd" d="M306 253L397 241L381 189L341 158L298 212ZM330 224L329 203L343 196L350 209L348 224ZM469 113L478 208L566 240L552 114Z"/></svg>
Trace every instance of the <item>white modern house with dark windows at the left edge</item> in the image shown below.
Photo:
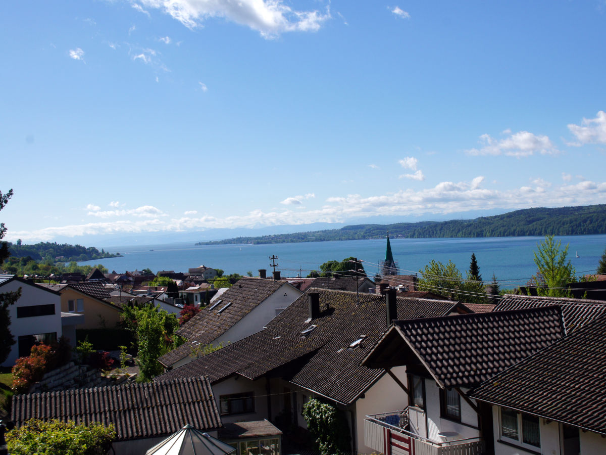
<svg viewBox="0 0 606 455"><path fill-rule="evenodd" d="M9 330L16 343L2 366L12 366L18 357L29 356L34 343L50 343L64 334L75 346L75 325L81 323L82 318L61 313L59 293L15 275L0 275L0 292L16 292L19 288L21 297L8 306Z"/></svg>

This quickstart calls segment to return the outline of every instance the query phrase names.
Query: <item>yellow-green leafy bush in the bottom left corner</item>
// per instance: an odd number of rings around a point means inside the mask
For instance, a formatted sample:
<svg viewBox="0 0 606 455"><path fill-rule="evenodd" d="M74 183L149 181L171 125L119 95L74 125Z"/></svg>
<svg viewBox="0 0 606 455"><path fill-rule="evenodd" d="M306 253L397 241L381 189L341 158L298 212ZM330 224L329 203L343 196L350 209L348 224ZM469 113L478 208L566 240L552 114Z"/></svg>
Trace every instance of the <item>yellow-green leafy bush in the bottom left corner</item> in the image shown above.
<svg viewBox="0 0 606 455"><path fill-rule="evenodd" d="M7 448L12 455L101 455L112 447L116 432L110 423L92 422L76 425L72 420L30 419L21 428L7 433Z"/></svg>

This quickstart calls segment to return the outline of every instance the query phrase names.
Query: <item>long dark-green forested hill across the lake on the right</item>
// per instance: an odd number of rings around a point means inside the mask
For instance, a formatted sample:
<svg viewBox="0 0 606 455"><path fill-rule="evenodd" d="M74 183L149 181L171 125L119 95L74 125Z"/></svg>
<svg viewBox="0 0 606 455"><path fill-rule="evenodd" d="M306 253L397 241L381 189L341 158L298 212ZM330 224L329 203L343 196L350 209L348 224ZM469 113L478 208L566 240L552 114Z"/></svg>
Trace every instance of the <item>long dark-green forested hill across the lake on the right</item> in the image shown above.
<svg viewBox="0 0 606 455"><path fill-rule="evenodd" d="M362 240L390 237L518 237L524 235L606 234L606 204L548 209L524 209L474 220L421 221L419 223L357 224L341 229L295 234L235 237L196 245L238 243L295 243L302 241Z"/></svg>

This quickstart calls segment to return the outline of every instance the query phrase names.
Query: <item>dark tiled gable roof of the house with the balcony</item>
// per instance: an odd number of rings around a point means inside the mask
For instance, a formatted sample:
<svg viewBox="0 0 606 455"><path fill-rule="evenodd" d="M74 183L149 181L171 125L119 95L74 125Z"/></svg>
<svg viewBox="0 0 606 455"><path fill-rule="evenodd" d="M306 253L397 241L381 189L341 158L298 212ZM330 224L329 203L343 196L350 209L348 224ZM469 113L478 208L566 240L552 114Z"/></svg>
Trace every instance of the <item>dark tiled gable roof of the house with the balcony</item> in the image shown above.
<svg viewBox="0 0 606 455"><path fill-rule="evenodd" d="M364 365L424 367L441 388L472 387L562 335L558 306L396 321Z"/></svg>

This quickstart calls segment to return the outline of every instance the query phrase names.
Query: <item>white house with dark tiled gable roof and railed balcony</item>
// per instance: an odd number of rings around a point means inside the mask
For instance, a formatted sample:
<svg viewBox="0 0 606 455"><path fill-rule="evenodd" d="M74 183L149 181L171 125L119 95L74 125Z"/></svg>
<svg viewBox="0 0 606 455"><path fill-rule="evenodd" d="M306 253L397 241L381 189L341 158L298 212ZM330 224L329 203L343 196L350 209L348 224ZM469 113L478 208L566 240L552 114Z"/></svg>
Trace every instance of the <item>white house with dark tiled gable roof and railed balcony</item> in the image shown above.
<svg viewBox="0 0 606 455"><path fill-rule="evenodd" d="M366 445L402 455L494 453L493 414L467 391L563 335L558 306L395 321L362 365L401 368L408 406L367 414Z"/></svg>

